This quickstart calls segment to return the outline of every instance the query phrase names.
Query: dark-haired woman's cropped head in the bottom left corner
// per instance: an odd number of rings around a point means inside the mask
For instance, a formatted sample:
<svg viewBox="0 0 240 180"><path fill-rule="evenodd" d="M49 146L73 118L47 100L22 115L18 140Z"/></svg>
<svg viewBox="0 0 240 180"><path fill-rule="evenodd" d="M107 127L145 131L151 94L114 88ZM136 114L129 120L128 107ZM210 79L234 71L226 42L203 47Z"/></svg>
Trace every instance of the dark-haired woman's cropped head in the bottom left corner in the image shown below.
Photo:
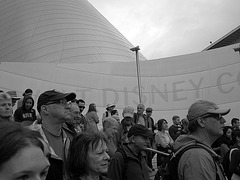
<svg viewBox="0 0 240 180"><path fill-rule="evenodd" d="M0 179L45 180L49 166L37 131L15 122L0 123Z"/></svg>

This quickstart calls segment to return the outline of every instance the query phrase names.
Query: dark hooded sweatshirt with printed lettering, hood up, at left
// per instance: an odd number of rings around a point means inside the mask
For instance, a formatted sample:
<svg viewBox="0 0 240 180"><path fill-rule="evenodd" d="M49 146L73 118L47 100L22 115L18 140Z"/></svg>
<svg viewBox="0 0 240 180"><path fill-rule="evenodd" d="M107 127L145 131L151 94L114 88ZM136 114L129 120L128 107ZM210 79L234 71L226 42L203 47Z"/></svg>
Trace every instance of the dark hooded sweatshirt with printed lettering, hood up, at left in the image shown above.
<svg viewBox="0 0 240 180"><path fill-rule="evenodd" d="M32 100L32 106L29 109L26 109L26 101L28 99ZM36 111L33 109L34 106L34 100L31 96L25 96L23 98L23 103L22 106L19 107L15 113L14 113L14 118L16 122L23 122L23 121L30 121L34 122L37 117L36 117Z"/></svg>

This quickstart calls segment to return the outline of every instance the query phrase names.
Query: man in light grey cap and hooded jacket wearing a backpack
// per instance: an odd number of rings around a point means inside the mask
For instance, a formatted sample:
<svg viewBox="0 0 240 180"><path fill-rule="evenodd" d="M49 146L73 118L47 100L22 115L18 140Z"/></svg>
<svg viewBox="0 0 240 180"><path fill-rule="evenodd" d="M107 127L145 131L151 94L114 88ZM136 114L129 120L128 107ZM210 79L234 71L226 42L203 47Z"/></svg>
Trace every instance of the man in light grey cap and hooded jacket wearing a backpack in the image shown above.
<svg viewBox="0 0 240 180"><path fill-rule="evenodd" d="M179 136L174 145L175 150L192 144L199 148L190 148L184 152L178 163L178 178L181 180L219 179L225 180L218 161L218 155L211 145L223 134L224 115L230 109L220 109L215 103L199 100L188 109L190 135ZM216 178L218 177L218 178Z"/></svg>

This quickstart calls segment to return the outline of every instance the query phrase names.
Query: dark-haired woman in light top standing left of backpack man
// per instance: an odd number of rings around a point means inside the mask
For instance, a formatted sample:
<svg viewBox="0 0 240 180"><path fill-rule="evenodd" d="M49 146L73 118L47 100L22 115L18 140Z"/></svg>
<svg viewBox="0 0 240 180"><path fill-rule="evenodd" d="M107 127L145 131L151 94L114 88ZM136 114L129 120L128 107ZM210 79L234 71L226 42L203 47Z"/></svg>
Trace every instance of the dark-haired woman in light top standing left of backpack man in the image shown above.
<svg viewBox="0 0 240 180"><path fill-rule="evenodd" d="M166 119L160 119L157 122L158 132L155 135L155 141L158 151L171 153L172 145L174 143L173 139L168 133L168 122ZM157 166L164 168L167 163L167 158L160 154L157 154Z"/></svg>

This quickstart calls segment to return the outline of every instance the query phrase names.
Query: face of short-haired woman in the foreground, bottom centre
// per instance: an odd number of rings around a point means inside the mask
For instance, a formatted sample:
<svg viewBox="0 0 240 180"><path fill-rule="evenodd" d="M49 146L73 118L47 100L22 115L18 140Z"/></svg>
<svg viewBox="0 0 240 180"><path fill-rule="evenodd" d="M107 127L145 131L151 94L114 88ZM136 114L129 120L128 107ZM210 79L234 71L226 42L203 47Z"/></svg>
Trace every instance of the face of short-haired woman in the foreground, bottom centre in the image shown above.
<svg viewBox="0 0 240 180"><path fill-rule="evenodd" d="M96 149L92 149L92 145L89 145L88 152L88 165L90 174L107 173L108 161L110 159L108 155L108 149L105 142L100 141Z"/></svg>

